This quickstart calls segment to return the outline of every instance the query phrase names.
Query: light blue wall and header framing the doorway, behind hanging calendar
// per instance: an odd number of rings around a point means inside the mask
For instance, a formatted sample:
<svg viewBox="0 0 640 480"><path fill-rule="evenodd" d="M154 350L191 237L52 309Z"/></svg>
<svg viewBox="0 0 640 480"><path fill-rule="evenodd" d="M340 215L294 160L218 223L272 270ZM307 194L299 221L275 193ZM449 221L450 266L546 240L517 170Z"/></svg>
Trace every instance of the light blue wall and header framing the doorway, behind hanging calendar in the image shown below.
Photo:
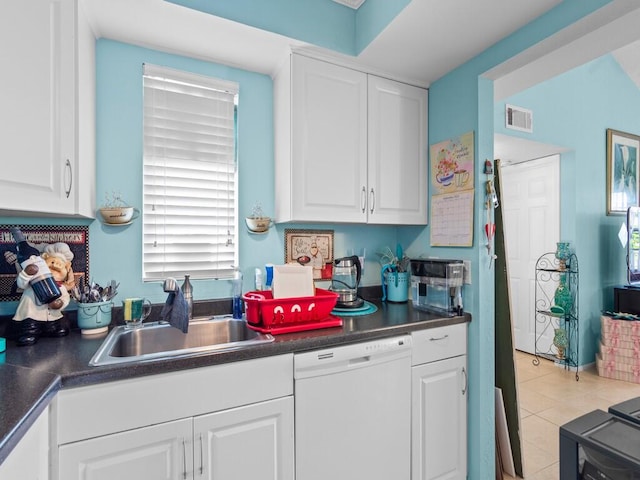
<svg viewBox="0 0 640 480"><path fill-rule="evenodd" d="M468 131L476 133L476 197L472 258L471 302L465 304L469 325L469 478L495 475L494 435L494 271L488 268L484 247L484 175L482 164L493 159L493 85L481 76L547 36L608 3L606 0L562 2L547 14L447 74L429 90L429 143ZM428 235L428 229L423 233ZM435 250L435 249L434 249ZM438 252L439 253L439 252ZM458 255L459 256L459 255Z"/></svg>

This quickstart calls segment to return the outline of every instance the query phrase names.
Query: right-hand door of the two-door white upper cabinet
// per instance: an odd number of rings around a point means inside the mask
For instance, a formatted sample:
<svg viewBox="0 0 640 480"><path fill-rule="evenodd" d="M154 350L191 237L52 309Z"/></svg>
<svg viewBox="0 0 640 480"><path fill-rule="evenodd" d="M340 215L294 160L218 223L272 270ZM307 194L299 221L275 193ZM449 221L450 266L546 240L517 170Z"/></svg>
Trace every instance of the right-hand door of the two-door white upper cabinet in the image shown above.
<svg viewBox="0 0 640 480"><path fill-rule="evenodd" d="M427 90L369 75L369 223L427 224Z"/></svg>

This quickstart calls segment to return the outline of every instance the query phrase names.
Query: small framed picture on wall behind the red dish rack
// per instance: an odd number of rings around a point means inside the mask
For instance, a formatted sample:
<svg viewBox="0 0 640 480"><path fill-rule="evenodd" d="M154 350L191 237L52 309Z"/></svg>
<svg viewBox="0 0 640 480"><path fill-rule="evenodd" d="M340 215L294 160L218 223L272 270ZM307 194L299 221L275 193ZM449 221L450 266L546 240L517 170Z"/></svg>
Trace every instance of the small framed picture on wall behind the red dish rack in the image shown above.
<svg viewBox="0 0 640 480"><path fill-rule="evenodd" d="M314 280L331 280L333 230L285 229L284 261L313 268Z"/></svg>

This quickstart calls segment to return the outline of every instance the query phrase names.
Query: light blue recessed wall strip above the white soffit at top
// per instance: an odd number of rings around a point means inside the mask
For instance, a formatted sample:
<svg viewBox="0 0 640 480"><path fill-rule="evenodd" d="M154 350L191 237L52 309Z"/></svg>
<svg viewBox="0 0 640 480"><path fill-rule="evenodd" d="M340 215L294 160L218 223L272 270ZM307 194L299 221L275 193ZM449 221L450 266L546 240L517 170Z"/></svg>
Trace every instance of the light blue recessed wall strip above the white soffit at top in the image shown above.
<svg viewBox="0 0 640 480"><path fill-rule="evenodd" d="M367 0L358 10L329 0L167 0L347 55L360 53L409 0Z"/></svg>

